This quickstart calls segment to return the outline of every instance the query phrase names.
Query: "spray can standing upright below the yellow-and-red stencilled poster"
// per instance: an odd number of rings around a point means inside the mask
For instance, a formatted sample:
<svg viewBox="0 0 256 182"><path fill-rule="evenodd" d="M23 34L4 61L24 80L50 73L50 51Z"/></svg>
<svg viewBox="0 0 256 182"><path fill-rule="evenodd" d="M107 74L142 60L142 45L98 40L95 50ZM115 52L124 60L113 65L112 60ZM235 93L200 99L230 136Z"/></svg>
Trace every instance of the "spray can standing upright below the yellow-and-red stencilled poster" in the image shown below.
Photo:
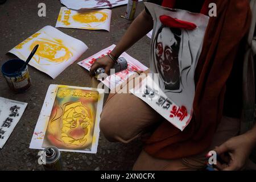
<svg viewBox="0 0 256 182"><path fill-rule="evenodd" d="M44 148L41 155L44 170L46 171L60 171L62 164L60 160L60 151L57 147L50 146Z"/></svg>

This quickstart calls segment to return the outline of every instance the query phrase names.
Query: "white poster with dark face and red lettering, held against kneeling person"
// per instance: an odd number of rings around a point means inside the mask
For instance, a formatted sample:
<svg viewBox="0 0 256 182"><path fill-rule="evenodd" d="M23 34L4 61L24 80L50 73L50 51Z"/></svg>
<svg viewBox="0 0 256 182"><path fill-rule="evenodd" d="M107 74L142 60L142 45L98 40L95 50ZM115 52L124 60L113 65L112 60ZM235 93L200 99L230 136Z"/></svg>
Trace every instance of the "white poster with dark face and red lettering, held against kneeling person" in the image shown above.
<svg viewBox="0 0 256 182"><path fill-rule="evenodd" d="M141 94L135 93L135 96L141 98L173 125L183 130L191 120L193 113L194 75L209 17L185 10L168 9L153 3L145 3L145 5L154 19L150 71L153 74L158 73L159 78L154 82L161 90L159 98L168 98L172 105L168 109L159 110L158 106L148 102L146 97L141 97ZM160 20L162 15L170 19L181 20L183 23L193 23L196 28L187 30L167 26ZM145 85L144 88L142 85L141 90L144 89ZM184 117L182 113L187 114ZM176 117L180 121L175 119Z"/></svg>

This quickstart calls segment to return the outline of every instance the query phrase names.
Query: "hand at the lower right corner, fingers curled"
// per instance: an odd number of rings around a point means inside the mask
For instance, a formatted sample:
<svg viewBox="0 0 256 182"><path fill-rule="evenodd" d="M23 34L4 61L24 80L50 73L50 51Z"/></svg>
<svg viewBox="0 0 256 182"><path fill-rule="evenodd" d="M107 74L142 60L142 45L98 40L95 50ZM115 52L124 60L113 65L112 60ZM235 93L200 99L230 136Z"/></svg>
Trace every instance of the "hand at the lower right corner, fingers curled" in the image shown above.
<svg viewBox="0 0 256 182"><path fill-rule="evenodd" d="M221 163L217 161L214 167L221 171L237 171L244 169L254 145L255 140L250 134L242 134L230 138L225 143L221 144L221 146L214 149L224 162Z"/></svg>

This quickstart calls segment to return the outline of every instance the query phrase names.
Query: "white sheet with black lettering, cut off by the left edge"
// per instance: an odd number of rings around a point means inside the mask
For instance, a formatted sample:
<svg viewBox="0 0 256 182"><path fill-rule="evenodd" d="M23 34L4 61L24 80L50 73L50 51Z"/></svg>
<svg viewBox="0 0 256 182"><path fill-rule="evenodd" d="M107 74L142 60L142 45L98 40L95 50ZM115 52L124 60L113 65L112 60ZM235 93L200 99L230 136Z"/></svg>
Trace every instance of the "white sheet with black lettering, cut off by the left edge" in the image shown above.
<svg viewBox="0 0 256 182"><path fill-rule="evenodd" d="M0 97L0 148L5 145L26 107L25 102Z"/></svg>

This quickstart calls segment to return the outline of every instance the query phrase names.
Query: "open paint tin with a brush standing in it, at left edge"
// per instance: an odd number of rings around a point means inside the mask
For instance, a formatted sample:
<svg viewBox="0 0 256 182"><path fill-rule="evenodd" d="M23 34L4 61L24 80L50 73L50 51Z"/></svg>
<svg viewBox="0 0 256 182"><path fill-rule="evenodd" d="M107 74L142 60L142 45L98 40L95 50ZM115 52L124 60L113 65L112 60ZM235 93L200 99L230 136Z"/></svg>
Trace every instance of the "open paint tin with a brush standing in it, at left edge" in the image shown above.
<svg viewBox="0 0 256 182"><path fill-rule="evenodd" d="M26 66L22 70L24 61L21 59L12 59L2 65L2 74L5 77L9 88L15 93L22 93L30 89L31 81Z"/></svg>

